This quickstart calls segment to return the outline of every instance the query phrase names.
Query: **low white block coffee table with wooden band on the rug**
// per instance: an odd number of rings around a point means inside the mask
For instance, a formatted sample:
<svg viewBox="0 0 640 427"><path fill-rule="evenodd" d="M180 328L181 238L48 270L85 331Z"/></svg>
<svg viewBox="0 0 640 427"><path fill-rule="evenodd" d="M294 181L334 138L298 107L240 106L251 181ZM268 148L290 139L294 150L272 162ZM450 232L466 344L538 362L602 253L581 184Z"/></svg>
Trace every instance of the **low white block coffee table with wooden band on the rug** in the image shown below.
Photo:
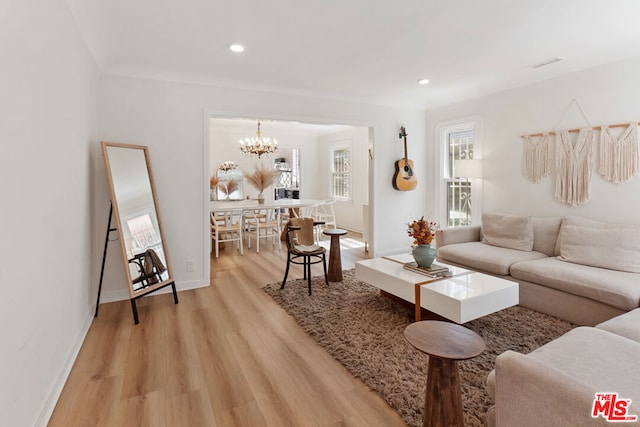
<svg viewBox="0 0 640 427"><path fill-rule="evenodd" d="M416 321L421 320L421 307L466 323L519 302L517 282L440 262L452 275L432 278L406 270L403 264L411 261L411 254L358 261L356 278L415 304Z"/></svg>

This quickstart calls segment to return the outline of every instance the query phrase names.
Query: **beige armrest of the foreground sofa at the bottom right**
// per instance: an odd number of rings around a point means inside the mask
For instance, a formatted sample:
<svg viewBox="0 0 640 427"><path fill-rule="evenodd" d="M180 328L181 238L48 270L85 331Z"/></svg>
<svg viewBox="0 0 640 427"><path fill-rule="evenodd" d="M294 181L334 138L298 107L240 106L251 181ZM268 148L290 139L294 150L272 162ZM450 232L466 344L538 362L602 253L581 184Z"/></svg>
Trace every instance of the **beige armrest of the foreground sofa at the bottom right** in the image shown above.
<svg viewBox="0 0 640 427"><path fill-rule="evenodd" d="M603 390L514 351L496 358L495 371L496 427L608 425L591 417L595 394Z"/></svg>

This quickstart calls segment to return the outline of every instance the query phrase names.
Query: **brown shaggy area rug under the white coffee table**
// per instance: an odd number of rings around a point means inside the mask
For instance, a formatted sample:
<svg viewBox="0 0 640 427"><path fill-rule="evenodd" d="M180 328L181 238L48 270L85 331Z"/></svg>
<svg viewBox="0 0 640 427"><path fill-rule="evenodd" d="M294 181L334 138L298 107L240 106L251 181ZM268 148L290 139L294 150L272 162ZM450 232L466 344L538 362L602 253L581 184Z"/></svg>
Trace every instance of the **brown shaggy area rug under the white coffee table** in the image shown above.
<svg viewBox="0 0 640 427"><path fill-rule="evenodd" d="M344 281L313 278L313 295L305 280L291 280L264 291L291 314L302 328L354 376L382 396L410 426L422 425L428 357L409 345L403 331L413 321L413 309L380 295L358 282L354 271ZM511 307L466 323L485 340L485 352L460 362L465 426L485 426L493 402L485 391L495 358L506 350L528 353L575 325L522 307Z"/></svg>

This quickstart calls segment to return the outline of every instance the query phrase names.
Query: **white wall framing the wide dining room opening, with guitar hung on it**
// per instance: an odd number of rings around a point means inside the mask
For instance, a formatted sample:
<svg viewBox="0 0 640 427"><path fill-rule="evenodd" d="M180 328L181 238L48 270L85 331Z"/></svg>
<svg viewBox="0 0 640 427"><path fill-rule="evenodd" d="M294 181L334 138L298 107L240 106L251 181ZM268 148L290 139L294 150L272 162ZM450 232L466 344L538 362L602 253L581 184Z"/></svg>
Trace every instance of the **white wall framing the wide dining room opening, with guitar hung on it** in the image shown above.
<svg viewBox="0 0 640 427"><path fill-rule="evenodd" d="M412 215L424 211L427 187L398 192L392 189L391 178L393 162L402 157L402 144L398 140L401 123L413 132L417 166L424 165L423 111L103 75L99 92L100 138L149 146L178 287L208 284L209 280L207 174L211 116L374 126L370 202L380 203L373 216L373 249L386 252L409 247L404 224ZM96 167L95 179L101 188L97 197L103 200L103 206L96 212L96 223L102 224L106 223L109 197L104 168L100 165ZM377 218L382 222L377 222ZM186 272L187 260L195 261L193 273ZM125 295L120 273L122 262L115 258L108 261L105 297L122 298Z"/></svg>

